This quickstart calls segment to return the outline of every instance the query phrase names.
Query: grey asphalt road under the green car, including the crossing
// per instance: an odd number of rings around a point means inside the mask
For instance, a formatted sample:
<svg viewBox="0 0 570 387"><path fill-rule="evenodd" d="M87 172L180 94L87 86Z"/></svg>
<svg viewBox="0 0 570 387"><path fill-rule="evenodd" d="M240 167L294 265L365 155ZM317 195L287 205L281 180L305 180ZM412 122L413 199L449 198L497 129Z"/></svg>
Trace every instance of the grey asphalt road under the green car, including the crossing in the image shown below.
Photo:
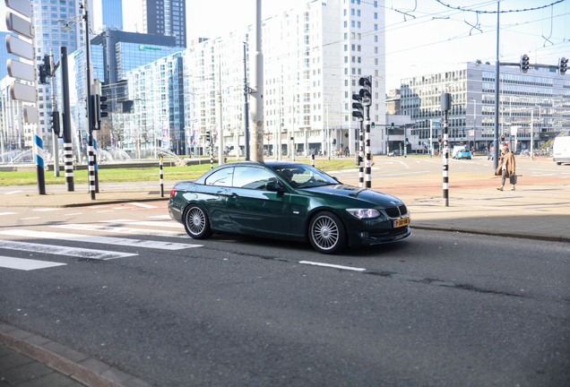
<svg viewBox="0 0 570 387"><path fill-rule="evenodd" d="M0 322L157 386L570 384L568 244L417 230L328 256L196 242L151 205L0 209L0 262L54 262L0 267Z"/></svg>

